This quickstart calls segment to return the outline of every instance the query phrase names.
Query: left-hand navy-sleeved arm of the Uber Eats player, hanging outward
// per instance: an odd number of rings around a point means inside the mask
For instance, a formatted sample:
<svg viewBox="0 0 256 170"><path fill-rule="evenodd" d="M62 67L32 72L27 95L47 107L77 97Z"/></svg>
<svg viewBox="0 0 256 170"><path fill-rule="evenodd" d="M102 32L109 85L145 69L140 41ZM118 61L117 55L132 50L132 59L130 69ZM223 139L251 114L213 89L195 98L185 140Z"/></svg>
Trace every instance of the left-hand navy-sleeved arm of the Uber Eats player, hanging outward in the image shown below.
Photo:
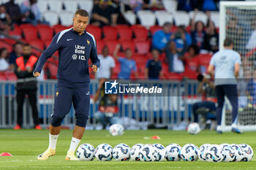
<svg viewBox="0 0 256 170"><path fill-rule="evenodd" d="M47 59L50 58L53 55L53 53L56 52L56 50L59 50L59 47L61 47L61 42L60 42L60 37L59 36L60 36L60 33L56 34L53 37L53 40L50 43L49 47L39 57L39 60L37 62L37 66L34 69L34 77L38 77L41 74L42 66L44 66Z"/></svg>

